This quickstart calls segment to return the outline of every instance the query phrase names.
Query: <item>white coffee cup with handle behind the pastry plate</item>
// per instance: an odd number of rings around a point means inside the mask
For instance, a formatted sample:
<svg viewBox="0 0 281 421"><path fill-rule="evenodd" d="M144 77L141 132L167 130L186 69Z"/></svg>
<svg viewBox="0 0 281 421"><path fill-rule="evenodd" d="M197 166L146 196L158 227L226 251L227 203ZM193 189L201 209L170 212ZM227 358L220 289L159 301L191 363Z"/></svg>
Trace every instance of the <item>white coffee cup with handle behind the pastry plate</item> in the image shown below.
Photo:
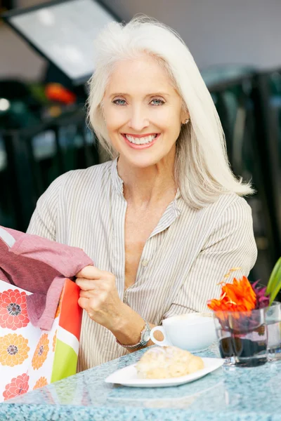
<svg viewBox="0 0 281 421"><path fill-rule="evenodd" d="M160 347L173 345L190 352L201 352L216 340L216 329L211 313L191 313L169 317L162 321L163 326L155 326L150 339ZM156 331L162 332L164 340L154 337Z"/></svg>

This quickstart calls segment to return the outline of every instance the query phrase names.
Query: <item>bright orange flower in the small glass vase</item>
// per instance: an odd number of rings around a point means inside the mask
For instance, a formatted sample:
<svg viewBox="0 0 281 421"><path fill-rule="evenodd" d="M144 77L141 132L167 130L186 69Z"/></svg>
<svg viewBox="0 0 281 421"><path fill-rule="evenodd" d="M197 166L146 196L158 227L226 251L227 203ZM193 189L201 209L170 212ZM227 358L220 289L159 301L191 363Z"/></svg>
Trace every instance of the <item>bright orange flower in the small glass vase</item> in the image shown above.
<svg viewBox="0 0 281 421"><path fill-rule="evenodd" d="M251 283L243 276L242 279L233 279L233 283L225 283L221 288L221 297L209 300L209 309L222 312L247 312L256 307L256 294Z"/></svg>

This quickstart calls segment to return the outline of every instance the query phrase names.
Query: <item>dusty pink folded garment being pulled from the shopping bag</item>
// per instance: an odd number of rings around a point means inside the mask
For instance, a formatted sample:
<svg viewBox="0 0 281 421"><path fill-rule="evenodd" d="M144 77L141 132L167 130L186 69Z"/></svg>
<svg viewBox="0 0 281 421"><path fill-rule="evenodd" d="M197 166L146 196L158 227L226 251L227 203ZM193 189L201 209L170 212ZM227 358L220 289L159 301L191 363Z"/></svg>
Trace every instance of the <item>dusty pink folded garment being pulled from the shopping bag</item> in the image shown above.
<svg viewBox="0 0 281 421"><path fill-rule="evenodd" d="M0 226L0 279L32 293L27 296L31 323L50 330L65 278L93 261L81 248Z"/></svg>

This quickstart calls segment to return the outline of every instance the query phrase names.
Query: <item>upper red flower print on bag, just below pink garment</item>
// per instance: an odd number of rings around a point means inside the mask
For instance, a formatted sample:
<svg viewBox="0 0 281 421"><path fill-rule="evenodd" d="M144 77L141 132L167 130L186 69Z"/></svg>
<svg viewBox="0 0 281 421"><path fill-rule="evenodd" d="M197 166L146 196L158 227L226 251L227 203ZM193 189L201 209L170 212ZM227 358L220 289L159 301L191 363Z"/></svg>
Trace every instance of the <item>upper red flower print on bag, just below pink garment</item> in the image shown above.
<svg viewBox="0 0 281 421"><path fill-rule="evenodd" d="M1 328L16 330L25 328L28 323L26 293L11 289L0 293Z"/></svg>

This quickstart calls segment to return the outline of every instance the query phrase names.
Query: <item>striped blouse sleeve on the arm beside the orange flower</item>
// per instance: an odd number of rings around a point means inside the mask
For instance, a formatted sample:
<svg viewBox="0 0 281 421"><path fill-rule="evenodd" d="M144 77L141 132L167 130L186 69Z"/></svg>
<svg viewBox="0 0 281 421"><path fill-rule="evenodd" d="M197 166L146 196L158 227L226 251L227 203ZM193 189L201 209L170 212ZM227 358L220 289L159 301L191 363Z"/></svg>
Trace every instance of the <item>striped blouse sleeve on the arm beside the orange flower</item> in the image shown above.
<svg viewBox="0 0 281 421"><path fill-rule="evenodd" d="M248 276L257 257L251 208L238 197L226 210L211 232L190 268L163 319L191 312L208 310L207 301L221 294L219 284L232 268L226 282Z"/></svg>

